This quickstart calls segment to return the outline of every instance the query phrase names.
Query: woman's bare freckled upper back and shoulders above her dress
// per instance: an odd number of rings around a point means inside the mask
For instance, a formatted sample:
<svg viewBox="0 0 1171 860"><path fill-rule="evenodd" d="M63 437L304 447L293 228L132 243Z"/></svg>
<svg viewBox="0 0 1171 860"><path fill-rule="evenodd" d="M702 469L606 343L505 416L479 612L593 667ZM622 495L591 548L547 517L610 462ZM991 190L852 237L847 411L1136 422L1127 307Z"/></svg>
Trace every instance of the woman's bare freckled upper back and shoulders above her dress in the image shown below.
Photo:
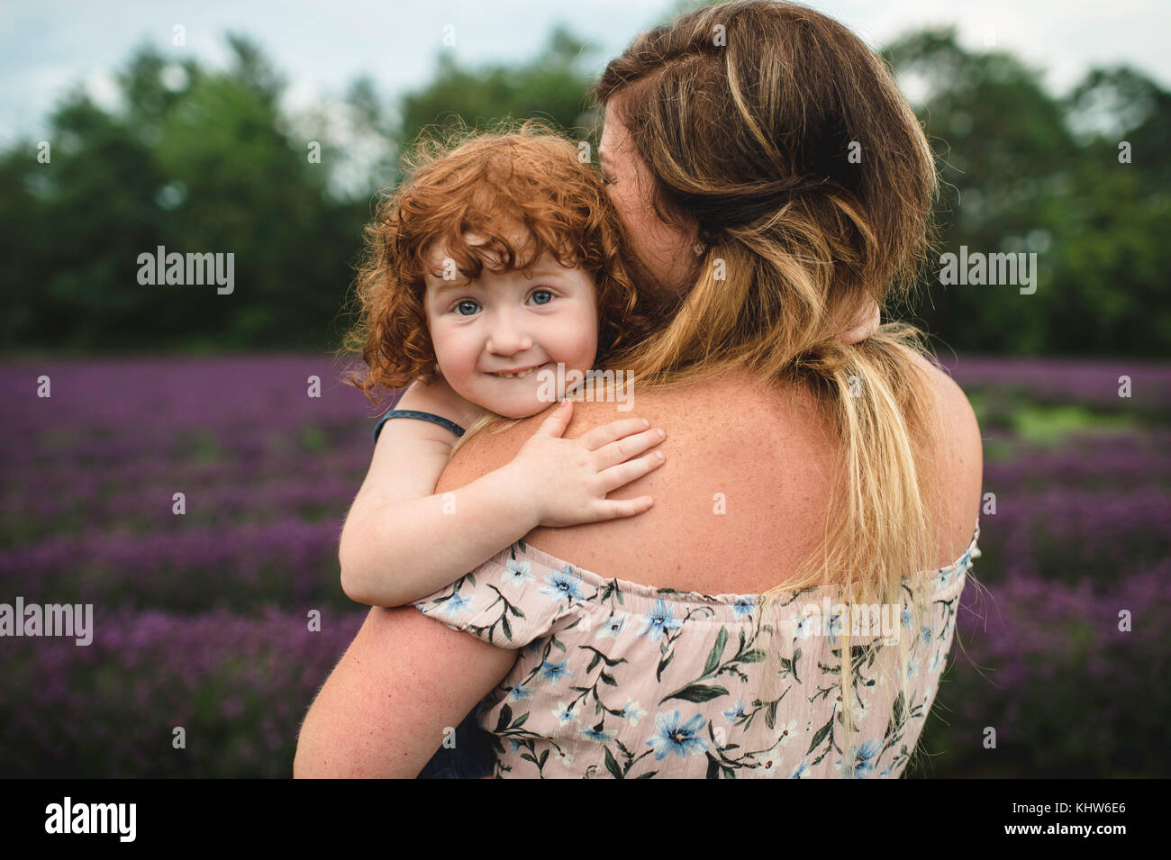
<svg viewBox="0 0 1171 860"><path fill-rule="evenodd" d="M946 496L939 511L943 565L967 548L975 522L982 468L979 428L959 386L918 360L936 392L931 410L937 455L929 468L930 481ZM837 442L812 394L730 373L697 386L636 390L632 408L619 406L575 404L564 435L576 438L625 418L646 418L666 431L660 446L666 462L610 494L649 495L655 504L636 517L535 529L527 536L534 546L603 576L710 593L767 589L786 576L788 559L816 548L831 504ZM437 491L463 487L506 465L548 412L470 439L447 465ZM723 570L735 572L711 572L715 569L687 560L700 557L718 557Z"/></svg>

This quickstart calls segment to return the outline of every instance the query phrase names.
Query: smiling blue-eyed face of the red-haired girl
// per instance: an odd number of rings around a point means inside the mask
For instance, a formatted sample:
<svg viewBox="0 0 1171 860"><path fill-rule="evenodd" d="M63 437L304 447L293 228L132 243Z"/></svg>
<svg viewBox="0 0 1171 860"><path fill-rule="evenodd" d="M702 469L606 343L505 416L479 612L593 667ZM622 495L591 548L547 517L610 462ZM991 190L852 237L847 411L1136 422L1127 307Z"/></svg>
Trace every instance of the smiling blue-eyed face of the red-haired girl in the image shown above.
<svg viewBox="0 0 1171 860"><path fill-rule="evenodd" d="M482 239L465 234L470 245ZM514 245L513 247L519 247ZM433 255L436 270L444 256ZM478 406L506 418L534 415L563 393L542 371L586 373L597 353L597 297L594 282L578 269L545 254L529 270L445 281L425 276L424 308L439 372L447 384ZM526 371L523 377L502 372Z"/></svg>

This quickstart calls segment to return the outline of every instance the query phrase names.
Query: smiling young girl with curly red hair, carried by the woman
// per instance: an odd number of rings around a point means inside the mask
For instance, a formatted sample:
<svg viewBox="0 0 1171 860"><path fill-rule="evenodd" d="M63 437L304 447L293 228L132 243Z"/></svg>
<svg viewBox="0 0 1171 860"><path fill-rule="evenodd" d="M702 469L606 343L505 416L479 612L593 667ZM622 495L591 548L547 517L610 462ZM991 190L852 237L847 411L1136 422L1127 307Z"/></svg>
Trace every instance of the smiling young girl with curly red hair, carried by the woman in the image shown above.
<svg viewBox="0 0 1171 860"><path fill-rule="evenodd" d="M602 179L578 150L526 123L512 135L424 143L410 167L367 228L362 319L348 339L369 367L351 381L368 395L409 384L375 428L338 551L345 593L375 606L424 598L539 525L641 514L649 497L607 494L663 463L650 449L664 434L638 418L562 438L573 405L554 380L584 374L645 333L653 312L623 266ZM557 400L511 462L436 495L465 427ZM424 776L486 773L475 730L470 716Z"/></svg>

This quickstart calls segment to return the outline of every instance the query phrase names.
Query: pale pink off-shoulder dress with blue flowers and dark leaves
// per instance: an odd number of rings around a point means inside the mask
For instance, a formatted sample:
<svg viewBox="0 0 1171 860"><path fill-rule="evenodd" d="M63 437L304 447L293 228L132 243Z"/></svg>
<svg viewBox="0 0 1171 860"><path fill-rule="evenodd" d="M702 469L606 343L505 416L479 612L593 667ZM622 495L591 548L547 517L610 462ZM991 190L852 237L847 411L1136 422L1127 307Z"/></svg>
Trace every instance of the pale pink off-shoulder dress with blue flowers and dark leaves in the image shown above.
<svg viewBox="0 0 1171 860"><path fill-rule="evenodd" d="M934 701L979 535L977 522L958 560L913 580L930 591L920 629L910 629L908 578L883 645L855 648L869 658L854 673L852 755L842 751L842 607L827 587L787 596L767 652L755 594L607 579L523 541L415 605L518 651L473 711L497 778L898 777ZM810 614L816 606L826 611ZM765 673L779 682L761 700Z"/></svg>

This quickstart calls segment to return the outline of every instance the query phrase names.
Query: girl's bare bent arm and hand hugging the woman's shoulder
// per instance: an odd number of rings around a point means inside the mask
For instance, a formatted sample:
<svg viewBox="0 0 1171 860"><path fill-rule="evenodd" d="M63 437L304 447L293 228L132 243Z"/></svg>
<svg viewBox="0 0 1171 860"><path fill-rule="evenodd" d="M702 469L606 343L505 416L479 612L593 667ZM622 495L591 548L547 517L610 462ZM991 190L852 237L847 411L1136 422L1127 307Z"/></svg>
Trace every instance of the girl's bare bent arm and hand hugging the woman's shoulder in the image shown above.
<svg viewBox="0 0 1171 860"><path fill-rule="evenodd" d="M452 408L450 397L422 388L408 391L396 407L468 420ZM624 419L562 439L571 415L573 405L562 404L512 462L443 495L434 494L434 484L456 434L409 419L383 425L342 530L345 593L358 603L398 606L451 584L539 525L646 510L650 498L607 500L605 494L662 465L653 454L631 459L662 438L641 419Z"/></svg>

